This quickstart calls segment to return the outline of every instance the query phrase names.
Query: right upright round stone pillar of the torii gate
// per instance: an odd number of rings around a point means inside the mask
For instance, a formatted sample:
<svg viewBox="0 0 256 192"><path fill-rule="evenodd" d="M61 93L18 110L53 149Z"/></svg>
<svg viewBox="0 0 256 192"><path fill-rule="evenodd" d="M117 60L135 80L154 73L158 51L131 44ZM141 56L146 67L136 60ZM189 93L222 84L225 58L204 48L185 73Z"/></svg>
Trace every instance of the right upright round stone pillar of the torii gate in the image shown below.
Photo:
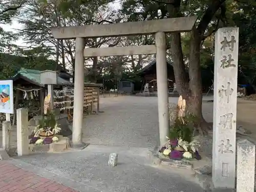
<svg viewBox="0 0 256 192"><path fill-rule="evenodd" d="M160 146L166 142L169 131L168 121L168 83L166 65L165 33L156 33L157 99Z"/></svg>

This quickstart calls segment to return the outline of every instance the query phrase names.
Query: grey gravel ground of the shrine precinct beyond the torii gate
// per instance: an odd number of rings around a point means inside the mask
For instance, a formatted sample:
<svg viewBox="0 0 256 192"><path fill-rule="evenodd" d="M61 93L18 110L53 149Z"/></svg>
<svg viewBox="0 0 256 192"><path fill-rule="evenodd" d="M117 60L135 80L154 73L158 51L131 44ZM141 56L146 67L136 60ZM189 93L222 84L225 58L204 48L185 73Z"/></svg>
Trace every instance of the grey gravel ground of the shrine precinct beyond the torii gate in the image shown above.
<svg viewBox="0 0 256 192"><path fill-rule="evenodd" d="M204 97L211 100L212 97ZM98 115L84 119L83 142L97 145L154 148L158 138L157 97L101 98ZM169 97L177 103L177 97ZM203 102L203 113L212 120L212 102Z"/></svg>

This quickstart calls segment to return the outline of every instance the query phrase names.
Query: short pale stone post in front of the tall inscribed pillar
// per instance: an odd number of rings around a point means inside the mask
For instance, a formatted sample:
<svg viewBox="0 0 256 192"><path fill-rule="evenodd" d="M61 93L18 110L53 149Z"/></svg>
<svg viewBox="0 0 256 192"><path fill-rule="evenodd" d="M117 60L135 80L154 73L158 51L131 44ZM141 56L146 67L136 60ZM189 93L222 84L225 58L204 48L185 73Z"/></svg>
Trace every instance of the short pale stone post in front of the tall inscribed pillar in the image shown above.
<svg viewBox="0 0 256 192"><path fill-rule="evenodd" d="M254 191L255 145L247 140L238 142L237 192Z"/></svg>

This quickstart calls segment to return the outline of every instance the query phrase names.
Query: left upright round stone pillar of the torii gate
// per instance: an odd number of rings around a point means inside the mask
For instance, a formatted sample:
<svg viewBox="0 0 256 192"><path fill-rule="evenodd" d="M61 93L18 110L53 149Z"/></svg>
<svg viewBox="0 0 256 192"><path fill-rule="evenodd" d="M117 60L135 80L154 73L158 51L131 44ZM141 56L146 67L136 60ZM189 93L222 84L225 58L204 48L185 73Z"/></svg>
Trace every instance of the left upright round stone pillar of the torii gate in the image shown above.
<svg viewBox="0 0 256 192"><path fill-rule="evenodd" d="M72 146L83 147L82 122L83 122L83 92L84 92L84 39L76 38L75 50L75 82L74 82L74 114Z"/></svg>

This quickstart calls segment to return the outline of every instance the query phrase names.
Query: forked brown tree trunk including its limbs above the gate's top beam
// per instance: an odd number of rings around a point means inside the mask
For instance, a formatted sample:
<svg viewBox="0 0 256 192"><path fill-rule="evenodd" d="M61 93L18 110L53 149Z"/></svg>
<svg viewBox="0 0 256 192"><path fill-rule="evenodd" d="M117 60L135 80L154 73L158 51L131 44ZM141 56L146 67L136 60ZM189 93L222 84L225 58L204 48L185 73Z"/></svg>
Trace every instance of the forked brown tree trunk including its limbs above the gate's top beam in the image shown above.
<svg viewBox="0 0 256 192"><path fill-rule="evenodd" d="M181 1L167 0L167 2L169 3L166 5L168 17L180 16L179 8ZM173 59L177 90L179 94L186 99L188 106L187 112L198 118L198 130L201 134L205 133L208 128L208 124L202 115L202 80L200 68L201 41L204 38L204 33L212 17L219 8L225 7L224 3L225 0L210 2L198 27L194 27L193 31L191 31L188 76L184 65L180 33L173 33L170 35L170 53ZM225 11L225 9L222 9L222 11Z"/></svg>

